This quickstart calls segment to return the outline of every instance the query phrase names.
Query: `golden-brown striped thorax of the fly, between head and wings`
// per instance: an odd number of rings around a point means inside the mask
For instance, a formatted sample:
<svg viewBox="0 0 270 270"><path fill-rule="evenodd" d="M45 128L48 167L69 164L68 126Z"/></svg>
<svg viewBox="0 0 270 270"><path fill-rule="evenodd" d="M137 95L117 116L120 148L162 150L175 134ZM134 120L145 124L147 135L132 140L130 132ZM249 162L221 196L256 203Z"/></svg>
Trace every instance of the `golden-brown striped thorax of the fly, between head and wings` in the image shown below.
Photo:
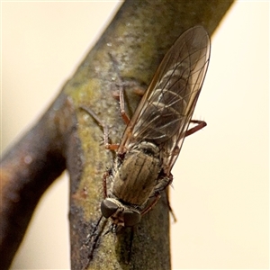
<svg viewBox="0 0 270 270"><path fill-rule="evenodd" d="M113 197L142 208L157 184L160 167L155 144L143 141L133 145L113 177Z"/></svg>

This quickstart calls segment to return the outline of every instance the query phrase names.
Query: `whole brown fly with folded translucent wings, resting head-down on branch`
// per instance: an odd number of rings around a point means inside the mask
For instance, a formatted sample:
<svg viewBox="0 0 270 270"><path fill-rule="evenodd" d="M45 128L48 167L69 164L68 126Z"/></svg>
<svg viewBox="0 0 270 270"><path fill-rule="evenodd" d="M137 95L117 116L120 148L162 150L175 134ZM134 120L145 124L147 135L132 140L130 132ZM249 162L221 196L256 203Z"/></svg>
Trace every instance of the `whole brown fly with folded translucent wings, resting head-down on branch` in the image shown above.
<svg viewBox="0 0 270 270"><path fill-rule="evenodd" d="M173 181L171 170L184 138L206 126L192 116L210 49L209 35L202 26L184 31L167 51L131 119L124 112L121 93L121 114L127 127L119 145L107 144L116 149L116 158L103 175L101 203L103 217L112 220L112 231L136 225L156 204ZM191 122L196 125L188 130ZM107 191L108 181L112 185Z"/></svg>

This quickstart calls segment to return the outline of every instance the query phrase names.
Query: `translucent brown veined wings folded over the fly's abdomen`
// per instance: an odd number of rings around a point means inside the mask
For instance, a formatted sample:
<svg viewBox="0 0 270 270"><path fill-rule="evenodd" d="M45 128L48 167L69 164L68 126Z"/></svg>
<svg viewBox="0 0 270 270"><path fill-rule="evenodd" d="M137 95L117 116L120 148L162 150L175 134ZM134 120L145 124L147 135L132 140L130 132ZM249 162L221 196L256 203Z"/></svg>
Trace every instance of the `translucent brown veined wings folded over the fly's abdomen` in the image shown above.
<svg viewBox="0 0 270 270"><path fill-rule="evenodd" d="M210 58L210 39L195 26L175 41L166 53L148 90L127 126L119 151L141 141L161 149L168 175L182 147Z"/></svg>

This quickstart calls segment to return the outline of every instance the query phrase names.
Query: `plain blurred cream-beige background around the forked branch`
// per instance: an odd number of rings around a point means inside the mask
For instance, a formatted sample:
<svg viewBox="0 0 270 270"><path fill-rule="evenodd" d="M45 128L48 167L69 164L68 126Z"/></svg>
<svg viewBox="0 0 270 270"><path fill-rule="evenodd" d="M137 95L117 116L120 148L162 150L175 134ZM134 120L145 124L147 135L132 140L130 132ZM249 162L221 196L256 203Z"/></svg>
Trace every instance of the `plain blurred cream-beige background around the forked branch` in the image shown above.
<svg viewBox="0 0 270 270"><path fill-rule="evenodd" d="M101 34L117 2L2 2L2 150L21 136ZM211 38L171 205L174 269L268 269L269 2L238 1ZM13 269L67 269L67 175L42 197ZM157 247L158 248L158 247Z"/></svg>

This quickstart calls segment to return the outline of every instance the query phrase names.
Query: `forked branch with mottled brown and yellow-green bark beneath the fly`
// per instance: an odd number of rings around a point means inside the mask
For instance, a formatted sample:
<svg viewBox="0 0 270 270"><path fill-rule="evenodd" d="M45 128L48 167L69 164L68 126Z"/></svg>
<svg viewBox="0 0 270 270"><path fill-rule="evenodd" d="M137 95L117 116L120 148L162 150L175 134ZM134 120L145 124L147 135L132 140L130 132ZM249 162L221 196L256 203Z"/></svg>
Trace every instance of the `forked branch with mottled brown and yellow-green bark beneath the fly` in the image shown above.
<svg viewBox="0 0 270 270"><path fill-rule="evenodd" d="M106 166L112 166L113 155L100 146L102 130L80 107L91 108L111 127L112 141L119 142L125 127L118 101L113 98L119 83L133 83L125 89L126 109L131 115L139 103L133 90L149 84L175 39L196 24L211 34L232 2L129 0L122 4L57 100L3 157L2 269L10 266L41 194L65 168L71 185L73 269L170 269L165 197L134 231L122 229L117 236L104 235L109 222L102 220L96 226L101 216L102 175Z"/></svg>

